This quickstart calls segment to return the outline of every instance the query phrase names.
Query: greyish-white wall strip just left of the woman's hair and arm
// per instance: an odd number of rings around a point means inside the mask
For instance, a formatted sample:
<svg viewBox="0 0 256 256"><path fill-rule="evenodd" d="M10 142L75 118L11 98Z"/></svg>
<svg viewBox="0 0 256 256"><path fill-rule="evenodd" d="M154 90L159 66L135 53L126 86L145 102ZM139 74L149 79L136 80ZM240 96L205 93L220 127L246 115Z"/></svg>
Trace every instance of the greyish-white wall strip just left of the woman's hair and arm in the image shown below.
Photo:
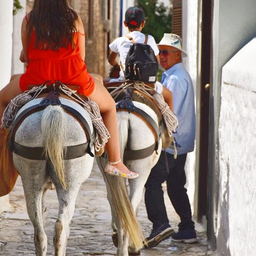
<svg viewBox="0 0 256 256"><path fill-rule="evenodd" d="M12 42L12 75L24 72L24 64L20 61L21 43L21 23L26 15L26 0L20 0L23 8L13 16L13 42Z"/></svg>

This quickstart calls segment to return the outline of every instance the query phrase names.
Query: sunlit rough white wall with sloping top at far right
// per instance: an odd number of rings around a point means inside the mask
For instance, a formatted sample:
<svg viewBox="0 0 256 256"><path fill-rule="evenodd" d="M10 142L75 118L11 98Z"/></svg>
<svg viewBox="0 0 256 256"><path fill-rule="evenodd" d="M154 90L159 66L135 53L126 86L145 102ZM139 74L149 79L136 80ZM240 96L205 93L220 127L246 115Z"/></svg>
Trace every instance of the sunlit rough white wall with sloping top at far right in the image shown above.
<svg viewBox="0 0 256 256"><path fill-rule="evenodd" d="M255 58L253 38L222 68L217 236L225 225L232 256L254 256L256 251ZM223 223L225 214L228 221Z"/></svg>

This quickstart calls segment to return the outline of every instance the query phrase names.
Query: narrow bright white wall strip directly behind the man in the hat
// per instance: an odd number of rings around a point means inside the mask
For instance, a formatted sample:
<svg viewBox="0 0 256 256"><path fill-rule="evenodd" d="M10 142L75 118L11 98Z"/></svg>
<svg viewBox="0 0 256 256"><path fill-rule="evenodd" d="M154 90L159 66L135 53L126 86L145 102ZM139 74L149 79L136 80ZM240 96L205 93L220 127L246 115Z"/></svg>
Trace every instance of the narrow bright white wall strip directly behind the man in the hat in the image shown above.
<svg viewBox="0 0 256 256"><path fill-rule="evenodd" d="M182 2L182 47L188 54L188 57L183 58L183 64L192 78L195 102L197 85L197 5L197 1L195 0L183 0ZM188 154L185 166L187 173L185 187L188 189L192 213L194 212L195 194L195 150Z"/></svg>

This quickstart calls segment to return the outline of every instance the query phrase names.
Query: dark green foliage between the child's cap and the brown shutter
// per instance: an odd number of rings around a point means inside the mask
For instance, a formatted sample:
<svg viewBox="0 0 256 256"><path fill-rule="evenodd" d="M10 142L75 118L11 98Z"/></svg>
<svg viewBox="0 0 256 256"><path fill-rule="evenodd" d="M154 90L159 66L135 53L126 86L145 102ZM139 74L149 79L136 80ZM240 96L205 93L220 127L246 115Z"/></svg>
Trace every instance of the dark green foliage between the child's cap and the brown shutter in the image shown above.
<svg viewBox="0 0 256 256"><path fill-rule="evenodd" d="M152 35L159 43L164 33L172 31L172 0L165 6L158 0L137 0L135 6L140 6L145 12L146 24L142 33Z"/></svg>

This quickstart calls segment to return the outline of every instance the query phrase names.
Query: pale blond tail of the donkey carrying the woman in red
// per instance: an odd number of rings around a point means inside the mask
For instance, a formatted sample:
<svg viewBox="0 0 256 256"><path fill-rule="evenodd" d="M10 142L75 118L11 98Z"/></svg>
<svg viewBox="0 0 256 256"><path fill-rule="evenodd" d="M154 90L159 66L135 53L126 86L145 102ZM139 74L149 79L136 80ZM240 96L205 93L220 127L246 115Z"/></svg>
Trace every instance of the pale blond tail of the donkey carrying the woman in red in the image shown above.
<svg viewBox="0 0 256 256"><path fill-rule="evenodd" d="M63 164L66 127L67 117L60 106L50 105L45 108L41 120L45 156L53 164L63 189L67 189Z"/></svg>

